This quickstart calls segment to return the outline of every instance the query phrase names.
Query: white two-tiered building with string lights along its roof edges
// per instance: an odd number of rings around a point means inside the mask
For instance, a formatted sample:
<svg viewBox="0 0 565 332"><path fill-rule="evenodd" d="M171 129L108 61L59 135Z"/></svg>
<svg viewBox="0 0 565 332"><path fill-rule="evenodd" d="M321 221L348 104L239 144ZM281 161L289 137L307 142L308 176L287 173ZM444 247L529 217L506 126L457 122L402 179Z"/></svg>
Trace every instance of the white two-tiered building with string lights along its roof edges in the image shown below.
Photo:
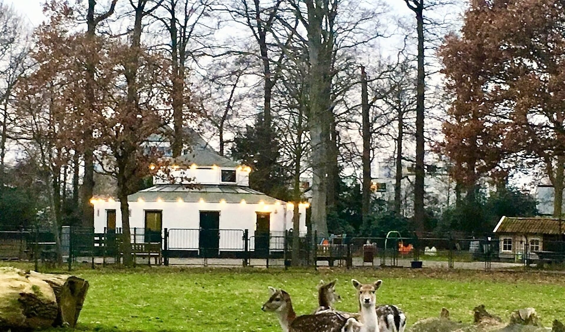
<svg viewBox="0 0 565 332"><path fill-rule="evenodd" d="M168 229L168 248L183 256L228 255L244 250L282 250L282 235L292 229L293 206L249 187L250 168L220 156L203 139L192 135L192 150L177 161L198 187L171 184L154 177L154 186L128 196L129 225L136 242L160 242ZM160 146L170 148L167 142ZM121 228L120 203L94 198L94 231ZM307 203L299 206L301 232L306 232ZM133 232L133 230L132 230ZM270 235L270 236L267 236ZM164 243L163 243L164 245Z"/></svg>

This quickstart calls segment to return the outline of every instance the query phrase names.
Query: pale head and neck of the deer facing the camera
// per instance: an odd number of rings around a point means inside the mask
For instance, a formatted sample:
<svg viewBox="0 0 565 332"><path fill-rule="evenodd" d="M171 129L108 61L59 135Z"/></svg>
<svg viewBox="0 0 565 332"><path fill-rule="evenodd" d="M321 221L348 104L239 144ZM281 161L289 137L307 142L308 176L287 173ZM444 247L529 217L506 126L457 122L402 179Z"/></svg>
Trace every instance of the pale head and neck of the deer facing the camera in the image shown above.
<svg viewBox="0 0 565 332"><path fill-rule="evenodd" d="M379 332L379 318L376 312L377 296L375 292L379 289L383 281L379 279L373 283L363 284L355 279L351 279L351 283L359 292L359 313L361 314L361 322L363 323L360 332Z"/></svg>

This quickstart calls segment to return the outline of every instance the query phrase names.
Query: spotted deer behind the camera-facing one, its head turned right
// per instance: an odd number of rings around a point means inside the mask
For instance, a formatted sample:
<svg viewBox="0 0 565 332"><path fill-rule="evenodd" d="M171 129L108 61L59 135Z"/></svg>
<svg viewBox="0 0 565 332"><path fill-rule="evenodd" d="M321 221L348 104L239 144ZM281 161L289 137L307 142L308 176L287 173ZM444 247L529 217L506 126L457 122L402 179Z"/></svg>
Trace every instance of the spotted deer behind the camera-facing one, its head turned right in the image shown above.
<svg viewBox="0 0 565 332"><path fill-rule="evenodd" d="M334 302L336 302L337 299L341 300L341 296L336 292L335 283L333 287L321 287L321 285L322 281L320 281L320 285L318 286L318 302L320 307L315 313L334 310L346 317L354 317L357 318L357 320L360 319L359 313L342 312L334 309ZM329 285L329 283L324 285ZM324 308L322 308L322 305L324 305ZM392 304L377 305L376 313L379 318L380 332L404 332L406 327L406 314L402 309Z"/></svg>

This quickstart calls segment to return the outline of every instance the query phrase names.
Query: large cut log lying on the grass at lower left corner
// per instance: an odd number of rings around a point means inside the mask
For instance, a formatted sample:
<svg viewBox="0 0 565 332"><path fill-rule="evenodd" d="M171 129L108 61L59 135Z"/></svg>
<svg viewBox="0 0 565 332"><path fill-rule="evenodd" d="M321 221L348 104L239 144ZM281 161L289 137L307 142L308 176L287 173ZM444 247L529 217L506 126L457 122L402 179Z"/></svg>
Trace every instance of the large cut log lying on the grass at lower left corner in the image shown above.
<svg viewBox="0 0 565 332"><path fill-rule="evenodd" d="M88 286L74 276L0 268L0 331L75 327Z"/></svg>

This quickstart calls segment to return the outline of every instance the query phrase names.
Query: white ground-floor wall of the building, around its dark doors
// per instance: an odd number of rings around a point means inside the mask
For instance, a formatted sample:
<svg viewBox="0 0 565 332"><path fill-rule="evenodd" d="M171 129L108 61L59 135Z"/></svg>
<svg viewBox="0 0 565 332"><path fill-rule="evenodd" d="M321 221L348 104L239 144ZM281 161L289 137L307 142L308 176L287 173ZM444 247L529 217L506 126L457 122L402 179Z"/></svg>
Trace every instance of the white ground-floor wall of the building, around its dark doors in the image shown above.
<svg viewBox="0 0 565 332"><path fill-rule="evenodd" d="M286 213L285 213L286 208ZM121 228L121 213L119 202L97 200L94 202L94 231L102 233L106 227L106 210L116 210L116 227ZM257 214L255 212L271 212L271 235L281 236L284 230L292 228L293 208L285 204L241 204L241 203L189 203L189 202L129 202L131 215L129 226L145 227L145 210L161 210L163 213L163 228L183 229L169 232L169 247L198 248L199 211L220 211L221 230L249 229L252 237L255 231ZM299 207L300 231L306 232L306 208ZM285 219L286 216L286 219ZM193 229L193 230L186 230ZM176 234L176 235L175 235ZM237 241L240 234L237 231L220 231L220 250L243 250L242 241ZM241 233L242 235L242 233ZM136 241L143 241L142 236ZM253 241L250 249L253 250ZM276 238L271 240L271 248L280 247L281 242ZM282 249L280 247L279 249Z"/></svg>

